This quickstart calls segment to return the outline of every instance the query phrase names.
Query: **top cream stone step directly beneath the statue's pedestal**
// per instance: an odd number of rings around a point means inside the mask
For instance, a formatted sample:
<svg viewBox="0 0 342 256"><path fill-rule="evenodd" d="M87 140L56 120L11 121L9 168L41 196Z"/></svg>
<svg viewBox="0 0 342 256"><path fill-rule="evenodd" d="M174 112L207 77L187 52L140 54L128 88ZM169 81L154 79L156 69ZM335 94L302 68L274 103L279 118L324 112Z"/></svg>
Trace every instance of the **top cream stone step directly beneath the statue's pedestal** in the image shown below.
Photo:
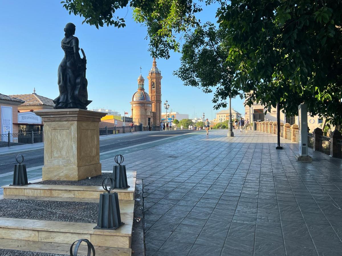
<svg viewBox="0 0 342 256"><path fill-rule="evenodd" d="M136 172L127 173L127 181L130 186L127 189L114 189L119 200L134 200ZM31 183L41 180L30 181ZM12 196L38 196L38 197L72 197L72 198L100 198L105 190L102 186L71 186L71 185L42 185L30 184L26 186L2 186L4 195Z"/></svg>

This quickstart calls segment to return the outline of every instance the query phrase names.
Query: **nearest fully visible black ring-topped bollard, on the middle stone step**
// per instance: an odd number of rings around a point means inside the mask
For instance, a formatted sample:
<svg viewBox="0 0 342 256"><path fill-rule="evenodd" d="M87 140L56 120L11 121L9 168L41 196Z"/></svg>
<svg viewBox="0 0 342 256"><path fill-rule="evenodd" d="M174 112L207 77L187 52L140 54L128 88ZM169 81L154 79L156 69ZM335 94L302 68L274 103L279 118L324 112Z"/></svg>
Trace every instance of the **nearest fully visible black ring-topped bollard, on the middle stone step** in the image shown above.
<svg viewBox="0 0 342 256"><path fill-rule="evenodd" d="M108 179L111 182L110 188L107 188ZM107 193L100 195L98 204L97 226L94 229L115 230L124 225L121 222L118 193L110 193L114 189L114 179L107 177L102 182L102 187Z"/></svg>

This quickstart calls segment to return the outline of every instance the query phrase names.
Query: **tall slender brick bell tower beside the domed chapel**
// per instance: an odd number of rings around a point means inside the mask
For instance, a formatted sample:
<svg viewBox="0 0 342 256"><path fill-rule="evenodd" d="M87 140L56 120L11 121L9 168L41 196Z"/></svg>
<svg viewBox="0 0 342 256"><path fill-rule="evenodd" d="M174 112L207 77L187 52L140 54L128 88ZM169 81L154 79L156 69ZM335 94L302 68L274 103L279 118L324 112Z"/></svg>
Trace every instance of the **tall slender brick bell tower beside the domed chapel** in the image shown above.
<svg viewBox="0 0 342 256"><path fill-rule="evenodd" d="M154 125L159 126L161 120L161 76L160 70L157 68L156 58L153 58L151 70L148 72L148 92L152 102L152 112L154 112Z"/></svg>

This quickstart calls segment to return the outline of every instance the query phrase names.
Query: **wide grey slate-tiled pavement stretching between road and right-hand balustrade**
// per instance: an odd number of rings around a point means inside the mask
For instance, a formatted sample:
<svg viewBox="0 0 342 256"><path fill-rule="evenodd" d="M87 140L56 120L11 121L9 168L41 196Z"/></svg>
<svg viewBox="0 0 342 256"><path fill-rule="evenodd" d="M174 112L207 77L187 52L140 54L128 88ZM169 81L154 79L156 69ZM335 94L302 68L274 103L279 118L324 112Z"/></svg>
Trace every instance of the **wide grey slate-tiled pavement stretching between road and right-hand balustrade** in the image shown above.
<svg viewBox="0 0 342 256"><path fill-rule="evenodd" d="M234 132L125 156L143 179L146 255L342 255L342 160L297 162L297 143Z"/></svg>

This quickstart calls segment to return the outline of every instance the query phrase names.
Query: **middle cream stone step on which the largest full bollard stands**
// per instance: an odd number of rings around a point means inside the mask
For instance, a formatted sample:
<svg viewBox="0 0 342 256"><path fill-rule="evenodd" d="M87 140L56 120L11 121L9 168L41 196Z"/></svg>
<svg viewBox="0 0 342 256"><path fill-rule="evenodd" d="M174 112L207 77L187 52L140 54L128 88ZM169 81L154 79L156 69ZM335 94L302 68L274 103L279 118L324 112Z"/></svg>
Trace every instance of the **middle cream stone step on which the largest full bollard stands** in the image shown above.
<svg viewBox="0 0 342 256"><path fill-rule="evenodd" d="M0 217L0 238L70 244L81 238L94 246L130 248L133 214L121 214L125 225L117 230L93 229L94 223L41 221Z"/></svg>

